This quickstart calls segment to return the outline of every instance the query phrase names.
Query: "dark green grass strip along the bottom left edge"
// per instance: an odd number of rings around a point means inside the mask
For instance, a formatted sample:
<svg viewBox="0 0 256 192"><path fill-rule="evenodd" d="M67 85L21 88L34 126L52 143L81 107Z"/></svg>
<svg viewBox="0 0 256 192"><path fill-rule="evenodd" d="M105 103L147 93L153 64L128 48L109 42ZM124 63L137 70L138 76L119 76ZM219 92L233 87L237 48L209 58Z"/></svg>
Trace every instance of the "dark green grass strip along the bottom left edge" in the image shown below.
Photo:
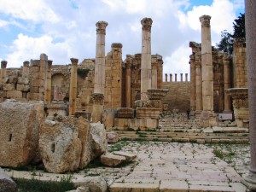
<svg viewBox="0 0 256 192"><path fill-rule="evenodd" d="M61 177L60 182L56 181L39 181L32 178L26 180L24 178L13 178L17 183L19 192L65 192L67 190L76 189L74 184L71 182L72 175L67 177Z"/></svg>

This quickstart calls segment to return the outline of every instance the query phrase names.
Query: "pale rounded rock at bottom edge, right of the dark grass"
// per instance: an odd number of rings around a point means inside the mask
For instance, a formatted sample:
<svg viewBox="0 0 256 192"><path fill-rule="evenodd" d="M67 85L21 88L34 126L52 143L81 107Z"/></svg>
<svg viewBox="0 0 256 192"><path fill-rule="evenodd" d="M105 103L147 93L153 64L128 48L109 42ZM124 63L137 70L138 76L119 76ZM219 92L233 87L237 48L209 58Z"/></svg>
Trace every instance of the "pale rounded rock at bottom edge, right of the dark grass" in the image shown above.
<svg viewBox="0 0 256 192"><path fill-rule="evenodd" d="M77 179L74 184L79 189L84 187L84 191L107 192L108 190L108 185L103 177L83 177Z"/></svg>

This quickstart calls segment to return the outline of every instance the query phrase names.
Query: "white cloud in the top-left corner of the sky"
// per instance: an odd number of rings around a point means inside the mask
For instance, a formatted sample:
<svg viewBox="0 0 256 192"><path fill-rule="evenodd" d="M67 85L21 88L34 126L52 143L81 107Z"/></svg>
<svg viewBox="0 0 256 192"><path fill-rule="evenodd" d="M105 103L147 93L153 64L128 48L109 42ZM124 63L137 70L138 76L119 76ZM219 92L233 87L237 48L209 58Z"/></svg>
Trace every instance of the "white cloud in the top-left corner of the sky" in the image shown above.
<svg viewBox="0 0 256 192"><path fill-rule="evenodd" d="M17 19L56 22L59 20L54 11L43 0L1 0L0 12Z"/></svg>

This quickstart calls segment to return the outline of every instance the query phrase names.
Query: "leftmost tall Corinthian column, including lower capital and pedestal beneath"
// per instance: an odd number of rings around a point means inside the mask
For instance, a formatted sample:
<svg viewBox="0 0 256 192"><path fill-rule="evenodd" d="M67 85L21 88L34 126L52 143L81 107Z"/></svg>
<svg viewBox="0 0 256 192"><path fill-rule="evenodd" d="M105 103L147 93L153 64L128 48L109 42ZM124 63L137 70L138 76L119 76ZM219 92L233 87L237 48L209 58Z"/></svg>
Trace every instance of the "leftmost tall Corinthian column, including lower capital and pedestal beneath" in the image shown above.
<svg viewBox="0 0 256 192"><path fill-rule="evenodd" d="M106 21L98 21L96 23L96 61L95 61L95 76L94 90L91 96L92 105L92 121L94 123L102 122L102 112L104 104L104 86L105 86L105 36Z"/></svg>

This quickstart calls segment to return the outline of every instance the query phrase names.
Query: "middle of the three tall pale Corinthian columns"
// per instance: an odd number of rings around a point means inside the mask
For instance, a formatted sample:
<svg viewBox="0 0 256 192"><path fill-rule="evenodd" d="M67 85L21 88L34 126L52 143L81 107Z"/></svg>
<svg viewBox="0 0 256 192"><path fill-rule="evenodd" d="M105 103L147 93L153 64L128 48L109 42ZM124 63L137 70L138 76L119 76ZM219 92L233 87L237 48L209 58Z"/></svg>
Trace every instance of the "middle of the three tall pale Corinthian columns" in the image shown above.
<svg viewBox="0 0 256 192"><path fill-rule="evenodd" d="M141 65L141 100L148 100L147 90L151 90L151 26L153 20L143 18L142 65Z"/></svg>

